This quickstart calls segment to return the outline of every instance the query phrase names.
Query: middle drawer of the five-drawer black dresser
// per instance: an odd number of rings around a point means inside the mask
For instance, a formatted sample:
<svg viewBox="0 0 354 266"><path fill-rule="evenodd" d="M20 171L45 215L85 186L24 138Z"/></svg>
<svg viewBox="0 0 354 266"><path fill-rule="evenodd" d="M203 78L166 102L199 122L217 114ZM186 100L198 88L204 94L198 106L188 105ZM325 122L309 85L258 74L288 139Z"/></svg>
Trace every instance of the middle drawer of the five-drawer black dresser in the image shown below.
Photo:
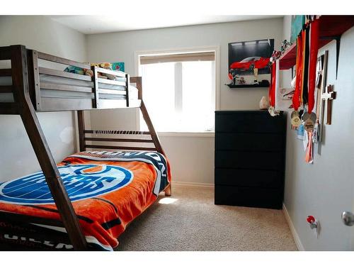
<svg viewBox="0 0 354 266"><path fill-rule="evenodd" d="M280 170L283 166L284 154L280 152L215 150L217 168Z"/></svg>

